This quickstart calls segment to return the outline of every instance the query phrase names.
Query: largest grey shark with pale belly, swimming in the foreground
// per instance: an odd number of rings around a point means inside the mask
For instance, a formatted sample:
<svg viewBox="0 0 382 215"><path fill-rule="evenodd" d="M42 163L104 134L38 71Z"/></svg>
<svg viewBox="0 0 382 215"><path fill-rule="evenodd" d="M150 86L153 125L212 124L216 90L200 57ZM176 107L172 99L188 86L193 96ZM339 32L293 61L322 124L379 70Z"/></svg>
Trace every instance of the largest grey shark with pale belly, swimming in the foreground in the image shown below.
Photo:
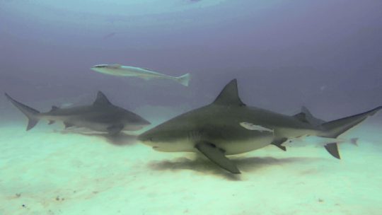
<svg viewBox="0 0 382 215"><path fill-rule="evenodd" d="M374 115L382 106L368 112L323 124L311 124L302 115L288 116L249 107L238 96L236 79L228 83L214 103L186 112L139 135L138 139L156 151L201 152L221 168L240 173L226 155L245 153L274 144L280 149L284 141L303 135L336 138L343 132ZM306 113L305 113L306 115ZM317 119L313 119L317 123ZM272 132L246 129L248 122ZM325 148L340 158L337 144Z"/></svg>

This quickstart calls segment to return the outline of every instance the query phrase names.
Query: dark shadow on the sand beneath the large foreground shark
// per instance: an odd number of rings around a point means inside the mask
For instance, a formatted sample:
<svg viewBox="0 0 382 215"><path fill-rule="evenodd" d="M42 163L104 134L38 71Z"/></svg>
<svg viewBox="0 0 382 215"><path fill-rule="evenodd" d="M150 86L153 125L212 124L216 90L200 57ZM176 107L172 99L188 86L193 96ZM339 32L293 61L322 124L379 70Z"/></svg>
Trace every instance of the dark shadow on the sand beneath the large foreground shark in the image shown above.
<svg viewBox="0 0 382 215"><path fill-rule="evenodd" d="M236 163L238 168L243 172L253 172L261 168L272 167L272 165L285 165L287 163L308 163L321 160L321 158L305 158L305 157L292 157L292 158L272 158L272 157L253 157L253 158L231 158L231 161ZM156 161L149 163L149 167L153 170L193 170L199 173L216 175L224 177L227 180L241 180L241 174L235 175L228 173L226 170L219 168L207 158L197 155L195 159L190 158L177 158L173 161Z"/></svg>

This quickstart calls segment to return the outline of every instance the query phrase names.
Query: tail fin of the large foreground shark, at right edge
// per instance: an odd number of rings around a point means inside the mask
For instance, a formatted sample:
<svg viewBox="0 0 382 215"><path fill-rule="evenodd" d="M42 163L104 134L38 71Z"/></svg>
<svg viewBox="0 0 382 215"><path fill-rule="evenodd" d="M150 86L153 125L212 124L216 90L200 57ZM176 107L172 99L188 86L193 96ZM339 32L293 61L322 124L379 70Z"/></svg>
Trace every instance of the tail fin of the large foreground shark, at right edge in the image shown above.
<svg viewBox="0 0 382 215"><path fill-rule="evenodd" d="M321 125L323 128L323 133L319 136L328 137L328 138L337 138L340 134L343 134L347 130L366 120L367 117L376 114L379 110L382 109L382 106L374 108L366 112L362 112L357 115L352 115L349 117L344 117L339 120L333 120L330 122L325 122ZM326 151L328 151L335 158L340 159L340 153L338 151L338 146L336 142L325 145Z"/></svg>

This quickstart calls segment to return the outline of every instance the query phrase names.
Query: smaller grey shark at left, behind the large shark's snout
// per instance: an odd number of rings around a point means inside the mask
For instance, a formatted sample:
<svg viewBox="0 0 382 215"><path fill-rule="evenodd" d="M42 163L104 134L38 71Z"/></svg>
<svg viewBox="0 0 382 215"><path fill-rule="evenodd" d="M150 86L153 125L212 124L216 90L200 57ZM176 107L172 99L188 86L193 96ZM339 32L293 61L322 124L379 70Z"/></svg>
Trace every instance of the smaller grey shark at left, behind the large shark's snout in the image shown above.
<svg viewBox="0 0 382 215"><path fill-rule="evenodd" d="M52 106L49 112L39 112L23 105L5 93L11 101L29 119L27 131L35 127L39 120L48 120L49 124L61 121L67 127L86 127L97 132L117 134L122 130L139 130L150 122L129 110L112 105L108 98L98 92L97 98L92 105L83 105L71 108L57 108Z"/></svg>

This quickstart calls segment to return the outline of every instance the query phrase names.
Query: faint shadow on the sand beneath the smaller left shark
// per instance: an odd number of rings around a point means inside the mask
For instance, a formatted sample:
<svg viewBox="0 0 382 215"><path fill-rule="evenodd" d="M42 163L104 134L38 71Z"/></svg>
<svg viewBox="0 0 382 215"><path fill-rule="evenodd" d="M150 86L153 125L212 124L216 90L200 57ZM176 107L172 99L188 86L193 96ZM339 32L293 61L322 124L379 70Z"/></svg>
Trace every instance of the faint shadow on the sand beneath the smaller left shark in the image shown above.
<svg viewBox="0 0 382 215"><path fill-rule="evenodd" d="M137 135L130 135L125 134L123 132L120 132L115 135L110 134L103 134L103 133L96 133L96 132L82 132L82 131L76 131L76 130L63 130L63 131L54 131L58 132L60 134L81 134L84 136L98 136L105 141L107 141L109 144L115 145L115 146L131 146L135 143L137 143Z"/></svg>

